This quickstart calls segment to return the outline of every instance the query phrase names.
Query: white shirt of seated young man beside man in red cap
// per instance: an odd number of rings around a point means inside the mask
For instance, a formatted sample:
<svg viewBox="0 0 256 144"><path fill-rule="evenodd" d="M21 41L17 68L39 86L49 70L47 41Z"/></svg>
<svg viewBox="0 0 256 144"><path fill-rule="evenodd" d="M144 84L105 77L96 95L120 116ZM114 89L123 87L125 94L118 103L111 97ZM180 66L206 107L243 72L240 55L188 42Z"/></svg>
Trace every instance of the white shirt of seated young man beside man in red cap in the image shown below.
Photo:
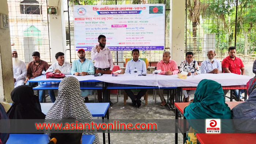
<svg viewBox="0 0 256 144"><path fill-rule="evenodd" d="M71 74L71 65L69 62L64 61L63 65L60 66L58 62L54 62L46 72L51 72L50 68L54 71L56 68L60 70L61 73L64 75L70 75Z"/></svg>

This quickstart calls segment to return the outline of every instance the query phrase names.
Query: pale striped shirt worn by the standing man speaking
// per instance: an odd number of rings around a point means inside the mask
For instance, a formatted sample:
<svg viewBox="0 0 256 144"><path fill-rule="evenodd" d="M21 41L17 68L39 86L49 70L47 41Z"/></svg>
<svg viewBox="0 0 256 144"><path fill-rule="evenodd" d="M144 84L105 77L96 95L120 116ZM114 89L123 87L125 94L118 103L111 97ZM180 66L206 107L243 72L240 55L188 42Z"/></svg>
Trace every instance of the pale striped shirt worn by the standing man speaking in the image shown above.
<svg viewBox="0 0 256 144"><path fill-rule="evenodd" d="M113 65L113 57L110 52L110 49L105 46L102 50L99 50L99 53L97 52L96 46L91 49L91 60L95 61L94 66L96 68L110 68L110 71L112 71L114 65Z"/></svg>

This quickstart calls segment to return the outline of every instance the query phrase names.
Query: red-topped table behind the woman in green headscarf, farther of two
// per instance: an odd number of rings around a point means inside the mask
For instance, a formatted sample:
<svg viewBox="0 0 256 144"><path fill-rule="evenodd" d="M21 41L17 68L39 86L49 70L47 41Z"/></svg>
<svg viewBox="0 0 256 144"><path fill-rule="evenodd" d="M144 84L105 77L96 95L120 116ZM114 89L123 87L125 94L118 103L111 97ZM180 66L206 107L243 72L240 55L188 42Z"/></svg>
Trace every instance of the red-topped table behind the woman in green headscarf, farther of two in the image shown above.
<svg viewBox="0 0 256 144"><path fill-rule="evenodd" d="M235 106L238 105L238 103L242 103L242 102L226 102L226 104L229 106L230 109L233 109ZM175 119L178 119L178 113L181 113L183 115L183 110L184 108L189 104L189 102L182 102L182 103L174 103L174 105L176 106L175 108ZM184 116L183 116L184 117ZM184 117L184 120L186 118ZM188 130L188 125L187 122L185 122L184 120L180 120L180 125L179 122L177 122L175 124L175 131L177 131L177 129L179 129L183 135L183 140L186 137L187 134L187 130ZM175 133L175 144L178 144L178 133Z"/></svg>

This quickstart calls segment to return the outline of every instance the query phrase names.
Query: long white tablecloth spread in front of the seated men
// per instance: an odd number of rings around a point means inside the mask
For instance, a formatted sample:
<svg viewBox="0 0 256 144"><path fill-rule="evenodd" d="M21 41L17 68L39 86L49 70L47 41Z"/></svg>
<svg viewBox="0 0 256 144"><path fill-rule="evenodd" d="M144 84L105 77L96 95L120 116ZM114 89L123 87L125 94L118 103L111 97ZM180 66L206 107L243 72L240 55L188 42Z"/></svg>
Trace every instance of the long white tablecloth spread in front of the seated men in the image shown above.
<svg viewBox="0 0 256 144"><path fill-rule="evenodd" d="M196 75L195 77L187 76L187 79L179 79L177 75L158 75L158 79L155 79L152 74L147 74L147 76L134 75L118 75L112 77L112 75L102 75L102 76L74 76L79 81L84 80L99 80L102 82L116 83L116 84L132 84L140 86L158 86L158 87L196 87L197 84L203 79L210 79L220 83L222 86L236 86L236 85L246 85L246 83L252 78L251 76L237 75L234 73L202 73ZM44 79L44 80L60 80L60 79Z"/></svg>

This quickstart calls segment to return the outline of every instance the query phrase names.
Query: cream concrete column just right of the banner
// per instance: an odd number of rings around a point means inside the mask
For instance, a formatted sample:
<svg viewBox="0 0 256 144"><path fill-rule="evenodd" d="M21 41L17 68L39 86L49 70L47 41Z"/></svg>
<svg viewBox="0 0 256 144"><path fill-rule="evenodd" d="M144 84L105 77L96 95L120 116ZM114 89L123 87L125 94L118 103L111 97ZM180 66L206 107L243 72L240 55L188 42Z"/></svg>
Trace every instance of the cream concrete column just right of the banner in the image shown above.
<svg viewBox="0 0 256 144"><path fill-rule="evenodd" d="M185 0L172 0L170 2L170 48L172 60L180 65L184 60L184 34L185 34Z"/></svg>

